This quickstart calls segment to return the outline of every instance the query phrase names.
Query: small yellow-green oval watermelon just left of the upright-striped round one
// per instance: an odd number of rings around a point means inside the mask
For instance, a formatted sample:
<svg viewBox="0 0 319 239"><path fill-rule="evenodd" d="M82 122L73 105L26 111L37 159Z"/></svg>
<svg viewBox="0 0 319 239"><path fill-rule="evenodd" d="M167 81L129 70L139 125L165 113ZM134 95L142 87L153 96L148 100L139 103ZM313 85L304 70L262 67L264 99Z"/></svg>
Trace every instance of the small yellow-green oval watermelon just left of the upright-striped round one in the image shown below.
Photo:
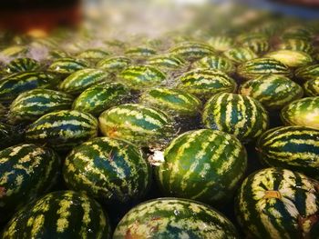
<svg viewBox="0 0 319 239"><path fill-rule="evenodd" d="M196 96L177 89L153 88L140 95L139 101L173 116L198 115L201 111L201 101Z"/></svg>

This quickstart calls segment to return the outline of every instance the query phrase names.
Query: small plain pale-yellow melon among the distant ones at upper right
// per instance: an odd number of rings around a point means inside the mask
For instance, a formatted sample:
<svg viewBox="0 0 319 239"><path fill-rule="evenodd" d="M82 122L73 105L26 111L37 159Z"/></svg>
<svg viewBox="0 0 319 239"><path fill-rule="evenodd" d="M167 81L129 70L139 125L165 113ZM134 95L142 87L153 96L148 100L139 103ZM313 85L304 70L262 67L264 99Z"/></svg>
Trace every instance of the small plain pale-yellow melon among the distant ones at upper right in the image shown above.
<svg viewBox="0 0 319 239"><path fill-rule="evenodd" d="M264 56L273 58L290 67L310 65L313 62L313 58L311 57L311 55L308 55L307 53L301 51L293 50L277 50Z"/></svg>

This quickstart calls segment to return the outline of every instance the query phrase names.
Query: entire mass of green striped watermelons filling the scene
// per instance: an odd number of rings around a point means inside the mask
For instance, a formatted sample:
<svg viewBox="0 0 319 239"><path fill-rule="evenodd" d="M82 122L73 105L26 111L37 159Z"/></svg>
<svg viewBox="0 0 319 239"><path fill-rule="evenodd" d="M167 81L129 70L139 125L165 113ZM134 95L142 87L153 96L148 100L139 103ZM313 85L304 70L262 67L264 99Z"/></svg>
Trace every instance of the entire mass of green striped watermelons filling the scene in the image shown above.
<svg viewBox="0 0 319 239"><path fill-rule="evenodd" d="M319 22L217 9L0 33L1 239L319 238Z"/></svg>

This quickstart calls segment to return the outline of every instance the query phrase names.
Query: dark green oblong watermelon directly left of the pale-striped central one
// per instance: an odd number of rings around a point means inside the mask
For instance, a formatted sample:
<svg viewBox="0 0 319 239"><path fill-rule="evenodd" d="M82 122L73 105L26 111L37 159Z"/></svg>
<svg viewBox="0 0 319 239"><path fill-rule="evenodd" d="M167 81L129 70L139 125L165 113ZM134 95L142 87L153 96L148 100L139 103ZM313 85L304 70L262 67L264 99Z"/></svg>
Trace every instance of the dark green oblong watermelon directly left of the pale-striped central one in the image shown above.
<svg viewBox="0 0 319 239"><path fill-rule="evenodd" d="M41 116L26 129L26 141L66 150L98 134L97 119L76 110L61 110Z"/></svg>

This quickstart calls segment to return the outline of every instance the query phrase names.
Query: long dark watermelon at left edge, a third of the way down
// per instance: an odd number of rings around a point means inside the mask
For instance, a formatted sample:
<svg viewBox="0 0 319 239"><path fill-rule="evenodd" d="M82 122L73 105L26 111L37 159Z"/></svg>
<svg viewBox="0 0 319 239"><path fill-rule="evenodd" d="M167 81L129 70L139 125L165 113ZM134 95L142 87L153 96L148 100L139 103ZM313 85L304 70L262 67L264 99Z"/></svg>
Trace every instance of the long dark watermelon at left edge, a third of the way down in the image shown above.
<svg viewBox="0 0 319 239"><path fill-rule="evenodd" d="M57 76L47 72L16 73L0 81L0 100L10 101L29 90L54 87L57 82Z"/></svg>

